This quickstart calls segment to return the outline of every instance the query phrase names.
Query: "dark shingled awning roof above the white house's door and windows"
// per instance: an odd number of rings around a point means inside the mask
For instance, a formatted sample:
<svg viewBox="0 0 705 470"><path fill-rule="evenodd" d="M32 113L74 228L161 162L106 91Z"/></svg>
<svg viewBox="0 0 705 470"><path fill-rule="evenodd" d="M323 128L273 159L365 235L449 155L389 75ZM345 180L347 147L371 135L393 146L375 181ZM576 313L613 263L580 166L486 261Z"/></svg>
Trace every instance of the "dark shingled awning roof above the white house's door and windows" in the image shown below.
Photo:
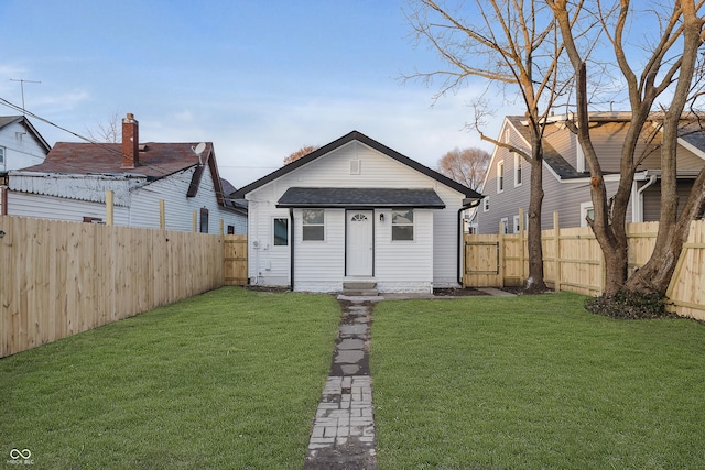
<svg viewBox="0 0 705 470"><path fill-rule="evenodd" d="M433 189L291 187L276 207L416 207L443 209Z"/></svg>

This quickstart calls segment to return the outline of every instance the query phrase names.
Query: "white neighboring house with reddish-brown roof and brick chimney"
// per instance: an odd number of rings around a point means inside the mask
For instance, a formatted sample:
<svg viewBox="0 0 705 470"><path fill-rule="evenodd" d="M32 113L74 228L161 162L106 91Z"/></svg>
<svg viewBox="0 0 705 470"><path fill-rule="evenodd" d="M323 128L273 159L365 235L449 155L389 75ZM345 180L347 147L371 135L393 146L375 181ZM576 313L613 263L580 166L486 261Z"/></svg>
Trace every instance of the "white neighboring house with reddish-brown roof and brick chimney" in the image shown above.
<svg viewBox="0 0 705 470"><path fill-rule="evenodd" d="M163 214L167 230L247 231L247 209L225 197L213 143L140 143L132 114L121 144L57 142L43 163L8 179L11 216L106 222L112 192L117 226L160 228Z"/></svg>

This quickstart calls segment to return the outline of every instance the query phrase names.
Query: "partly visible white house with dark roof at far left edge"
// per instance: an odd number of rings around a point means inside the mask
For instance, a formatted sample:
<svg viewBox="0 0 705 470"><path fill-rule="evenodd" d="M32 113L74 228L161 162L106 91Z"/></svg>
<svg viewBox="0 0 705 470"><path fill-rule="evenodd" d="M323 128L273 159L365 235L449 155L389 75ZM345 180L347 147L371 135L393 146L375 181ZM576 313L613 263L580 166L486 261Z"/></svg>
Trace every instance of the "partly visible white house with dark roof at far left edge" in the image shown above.
<svg viewBox="0 0 705 470"><path fill-rule="evenodd" d="M0 116L0 214L4 214L8 172L42 163L50 150L24 116Z"/></svg>

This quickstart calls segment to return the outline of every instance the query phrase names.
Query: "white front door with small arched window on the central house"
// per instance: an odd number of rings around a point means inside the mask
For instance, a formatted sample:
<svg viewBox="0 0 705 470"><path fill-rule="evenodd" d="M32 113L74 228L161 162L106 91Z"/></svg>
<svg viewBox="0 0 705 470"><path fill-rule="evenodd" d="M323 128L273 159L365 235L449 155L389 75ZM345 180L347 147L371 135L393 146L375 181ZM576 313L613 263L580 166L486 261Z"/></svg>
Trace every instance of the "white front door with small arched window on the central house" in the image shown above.
<svg viewBox="0 0 705 470"><path fill-rule="evenodd" d="M346 212L346 266L348 276L371 276L373 260L371 210L348 210Z"/></svg>

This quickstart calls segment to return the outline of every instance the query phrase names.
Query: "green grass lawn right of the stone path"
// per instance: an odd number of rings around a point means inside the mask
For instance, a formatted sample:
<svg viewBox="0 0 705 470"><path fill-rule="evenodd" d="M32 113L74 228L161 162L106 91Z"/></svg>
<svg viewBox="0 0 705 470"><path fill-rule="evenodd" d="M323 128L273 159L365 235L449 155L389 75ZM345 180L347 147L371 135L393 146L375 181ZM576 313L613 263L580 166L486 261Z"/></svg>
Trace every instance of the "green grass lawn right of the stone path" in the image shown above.
<svg viewBox="0 0 705 470"><path fill-rule="evenodd" d="M705 326L583 299L377 305L380 469L705 468Z"/></svg>

